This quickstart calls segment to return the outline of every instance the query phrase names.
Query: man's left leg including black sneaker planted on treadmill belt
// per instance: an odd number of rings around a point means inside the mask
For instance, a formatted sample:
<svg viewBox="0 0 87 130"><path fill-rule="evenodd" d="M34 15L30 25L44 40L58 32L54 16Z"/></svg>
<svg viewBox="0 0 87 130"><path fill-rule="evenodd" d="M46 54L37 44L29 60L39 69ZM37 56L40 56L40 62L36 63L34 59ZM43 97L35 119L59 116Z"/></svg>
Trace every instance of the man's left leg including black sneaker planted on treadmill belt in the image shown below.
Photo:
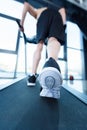
<svg viewBox="0 0 87 130"><path fill-rule="evenodd" d="M28 76L27 85L28 86L34 86L36 83L36 72L39 65L39 61L41 59L41 52L43 49L43 42L40 41L37 44L36 50L33 55L33 63L32 63L32 72L31 75Z"/></svg>

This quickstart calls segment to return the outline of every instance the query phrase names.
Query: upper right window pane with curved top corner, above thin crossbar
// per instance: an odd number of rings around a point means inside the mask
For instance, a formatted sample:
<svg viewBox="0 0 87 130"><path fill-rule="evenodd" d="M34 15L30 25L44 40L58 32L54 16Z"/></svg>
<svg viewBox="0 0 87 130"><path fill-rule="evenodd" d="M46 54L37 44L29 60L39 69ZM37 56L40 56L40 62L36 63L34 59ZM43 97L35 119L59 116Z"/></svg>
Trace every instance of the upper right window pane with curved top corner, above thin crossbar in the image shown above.
<svg viewBox="0 0 87 130"><path fill-rule="evenodd" d="M75 49L83 49L82 33L79 27L72 22L67 22L67 46Z"/></svg>

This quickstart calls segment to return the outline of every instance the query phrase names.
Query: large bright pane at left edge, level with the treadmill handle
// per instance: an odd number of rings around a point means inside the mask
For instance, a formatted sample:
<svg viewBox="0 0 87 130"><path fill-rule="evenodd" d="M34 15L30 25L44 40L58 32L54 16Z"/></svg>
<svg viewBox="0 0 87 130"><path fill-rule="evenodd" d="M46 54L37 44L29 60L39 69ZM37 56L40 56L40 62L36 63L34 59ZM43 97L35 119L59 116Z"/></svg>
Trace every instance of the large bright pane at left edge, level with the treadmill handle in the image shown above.
<svg viewBox="0 0 87 130"><path fill-rule="evenodd" d="M15 51L17 32L15 21L0 17L0 49Z"/></svg>

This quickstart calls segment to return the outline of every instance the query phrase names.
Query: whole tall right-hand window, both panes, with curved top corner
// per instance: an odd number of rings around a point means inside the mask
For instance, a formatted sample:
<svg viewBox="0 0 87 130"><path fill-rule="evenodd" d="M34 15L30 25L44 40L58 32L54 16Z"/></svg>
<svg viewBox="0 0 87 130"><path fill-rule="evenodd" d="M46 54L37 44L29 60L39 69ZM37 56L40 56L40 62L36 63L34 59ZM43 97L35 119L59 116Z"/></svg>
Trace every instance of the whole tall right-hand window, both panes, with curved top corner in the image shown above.
<svg viewBox="0 0 87 130"><path fill-rule="evenodd" d="M84 71L83 41L79 27L67 22L67 68L68 78L73 75L75 79L83 79Z"/></svg>

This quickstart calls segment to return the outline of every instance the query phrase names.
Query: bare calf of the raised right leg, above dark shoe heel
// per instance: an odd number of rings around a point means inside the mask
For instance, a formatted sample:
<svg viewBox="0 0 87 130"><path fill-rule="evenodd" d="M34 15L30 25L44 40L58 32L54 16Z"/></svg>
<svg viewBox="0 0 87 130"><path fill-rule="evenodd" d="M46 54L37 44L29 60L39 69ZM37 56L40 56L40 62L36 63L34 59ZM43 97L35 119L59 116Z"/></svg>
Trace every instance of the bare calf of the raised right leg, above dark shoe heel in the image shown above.
<svg viewBox="0 0 87 130"><path fill-rule="evenodd" d="M49 38L47 46L48 58L52 57L53 59L58 60L60 47L61 45L56 38L54 37Z"/></svg>

